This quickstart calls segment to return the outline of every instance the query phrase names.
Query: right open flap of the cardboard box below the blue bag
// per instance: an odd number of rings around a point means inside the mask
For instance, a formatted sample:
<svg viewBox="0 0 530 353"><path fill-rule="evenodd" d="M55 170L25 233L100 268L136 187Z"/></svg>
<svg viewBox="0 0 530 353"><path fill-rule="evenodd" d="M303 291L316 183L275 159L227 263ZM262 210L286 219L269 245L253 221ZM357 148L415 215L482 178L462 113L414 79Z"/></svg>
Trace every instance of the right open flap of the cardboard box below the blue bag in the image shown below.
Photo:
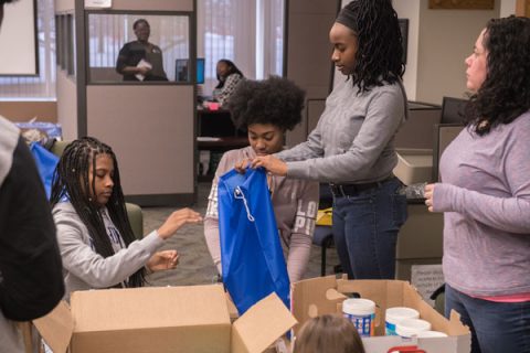
<svg viewBox="0 0 530 353"><path fill-rule="evenodd" d="M261 353L296 324L282 300L272 293L232 325L233 353Z"/></svg>

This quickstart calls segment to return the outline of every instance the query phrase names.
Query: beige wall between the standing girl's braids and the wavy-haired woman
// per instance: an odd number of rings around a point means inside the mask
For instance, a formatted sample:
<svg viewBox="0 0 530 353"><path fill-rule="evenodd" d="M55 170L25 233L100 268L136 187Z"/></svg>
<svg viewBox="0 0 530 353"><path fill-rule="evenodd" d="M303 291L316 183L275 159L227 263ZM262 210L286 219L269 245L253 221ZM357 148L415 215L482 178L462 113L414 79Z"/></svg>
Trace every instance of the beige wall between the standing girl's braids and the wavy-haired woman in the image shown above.
<svg viewBox="0 0 530 353"><path fill-rule="evenodd" d="M486 22L499 17L501 2L504 9L512 6L512 0L505 0L495 1L494 10L433 10L428 0L394 0L399 17L410 19L413 62L407 63L405 87L411 100L441 104L444 96L465 94L464 60Z"/></svg>

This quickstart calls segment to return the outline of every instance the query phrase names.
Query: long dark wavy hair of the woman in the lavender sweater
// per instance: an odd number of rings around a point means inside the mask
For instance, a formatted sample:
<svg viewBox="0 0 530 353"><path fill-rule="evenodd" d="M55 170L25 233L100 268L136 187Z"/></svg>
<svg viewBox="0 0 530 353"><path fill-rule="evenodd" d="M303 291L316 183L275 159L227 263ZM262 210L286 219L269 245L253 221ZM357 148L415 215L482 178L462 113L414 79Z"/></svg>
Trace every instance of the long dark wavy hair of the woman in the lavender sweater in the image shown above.
<svg viewBox="0 0 530 353"><path fill-rule="evenodd" d="M487 74L465 109L465 122L477 135L510 124L530 109L530 19L489 20L483 39Z"/></svg>

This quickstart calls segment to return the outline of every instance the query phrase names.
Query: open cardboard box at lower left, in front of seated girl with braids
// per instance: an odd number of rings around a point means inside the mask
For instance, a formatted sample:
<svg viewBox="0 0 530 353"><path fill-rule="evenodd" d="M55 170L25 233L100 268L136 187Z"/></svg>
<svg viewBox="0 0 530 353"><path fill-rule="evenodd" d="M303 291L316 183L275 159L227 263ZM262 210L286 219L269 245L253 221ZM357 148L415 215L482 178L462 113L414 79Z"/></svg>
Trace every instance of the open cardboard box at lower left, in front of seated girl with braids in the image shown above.
<svg viewBox="0 0 530 353"><path fill-rule="evenodd" d="M295 323L273 293L232 324L220 285L78 291L34 321L54 353L263 352Z"/></svg>

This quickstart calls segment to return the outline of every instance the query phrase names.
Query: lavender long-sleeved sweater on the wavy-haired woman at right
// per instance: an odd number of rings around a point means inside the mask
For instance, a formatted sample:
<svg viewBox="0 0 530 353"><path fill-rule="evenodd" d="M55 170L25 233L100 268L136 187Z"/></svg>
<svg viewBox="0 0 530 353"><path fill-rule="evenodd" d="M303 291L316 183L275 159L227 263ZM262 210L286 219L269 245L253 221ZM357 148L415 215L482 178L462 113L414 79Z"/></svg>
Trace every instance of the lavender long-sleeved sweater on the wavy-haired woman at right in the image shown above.
<svg viewBox="0 0 530 353"><path fill-rule="evenodd" d="M530 113L479 137L464 129L441 159L444 275L469 296L530 293Z"/></svg>

